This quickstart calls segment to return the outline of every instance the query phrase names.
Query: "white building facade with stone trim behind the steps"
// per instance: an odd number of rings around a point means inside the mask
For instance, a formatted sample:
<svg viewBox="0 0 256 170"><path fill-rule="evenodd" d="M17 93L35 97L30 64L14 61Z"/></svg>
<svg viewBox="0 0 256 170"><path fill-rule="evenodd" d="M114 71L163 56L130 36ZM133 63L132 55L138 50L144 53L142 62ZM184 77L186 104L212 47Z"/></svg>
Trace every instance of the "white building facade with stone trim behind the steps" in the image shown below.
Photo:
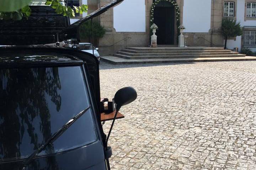
<svg viewBox="0 0 256 170"><path fill-rule="evenodd" d="M88 13L110 2L79 1L89 6ZM104 55L111 55L127 46L148 46L150 24L154 22L159 27L156 33L158 44L178 44L177 27L183 24L188 46L223 47L221 25L224 18L235 19L243 28L241 36L228 39L228 49L238 47L240 51L242 47L249 47L256 51L256 0L124 0L98 17L107 30L106 35L99 39L98 46ZM74 21L71 19L71 23Z"/></svg>

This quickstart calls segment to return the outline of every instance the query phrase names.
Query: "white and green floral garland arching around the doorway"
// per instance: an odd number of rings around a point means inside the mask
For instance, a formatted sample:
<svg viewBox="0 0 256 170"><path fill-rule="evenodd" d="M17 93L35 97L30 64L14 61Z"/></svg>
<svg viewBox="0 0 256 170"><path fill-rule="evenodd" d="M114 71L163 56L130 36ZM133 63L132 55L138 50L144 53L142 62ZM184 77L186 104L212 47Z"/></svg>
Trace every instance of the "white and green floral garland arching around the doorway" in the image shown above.
<svg viewBox="0 0 256 170"><path fill-rule="evenodd" d="M156 0L155 2L153 2L153 4L151 5L151 10L150 10L150 26L154 24L155 7L161 1L170 2L174 6L175 13L176 13L176 26L177 26L177 32L178 32L177 36L180 35L180 29L178 28L180 26L180 8L175 0Z"/></svg>

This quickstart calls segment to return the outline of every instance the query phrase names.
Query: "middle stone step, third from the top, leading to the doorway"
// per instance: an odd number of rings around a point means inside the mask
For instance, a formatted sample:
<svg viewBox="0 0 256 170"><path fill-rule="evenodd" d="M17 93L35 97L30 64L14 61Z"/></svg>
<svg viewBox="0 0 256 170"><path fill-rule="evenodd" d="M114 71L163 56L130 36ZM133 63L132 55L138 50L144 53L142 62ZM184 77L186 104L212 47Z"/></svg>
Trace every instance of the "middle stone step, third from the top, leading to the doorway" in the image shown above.
<svg viewBox="0 0 256 170"><path fill-rule="evenodd" d="M130 53L118 51L117 54L126 56L199 56L199 55L231 55L238 54L238 52L180 52L180 53Z"/></svg>

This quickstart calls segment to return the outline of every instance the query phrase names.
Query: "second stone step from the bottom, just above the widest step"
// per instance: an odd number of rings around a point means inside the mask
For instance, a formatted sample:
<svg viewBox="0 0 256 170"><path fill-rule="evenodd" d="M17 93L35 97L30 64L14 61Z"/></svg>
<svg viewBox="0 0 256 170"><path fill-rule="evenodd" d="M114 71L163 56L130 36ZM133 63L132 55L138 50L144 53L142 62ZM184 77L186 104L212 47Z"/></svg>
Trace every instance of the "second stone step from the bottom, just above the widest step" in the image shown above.
<svg viewBox="0 0 256 170"><path fill-rule="evenodd" d="M171 58L222 58L222 57L245 57L244 54L230 55L177 55L177 56L127 56L122 54L114 54L114 57L124 58L127 60L147 60L147 59L171 59Z"/></svg>

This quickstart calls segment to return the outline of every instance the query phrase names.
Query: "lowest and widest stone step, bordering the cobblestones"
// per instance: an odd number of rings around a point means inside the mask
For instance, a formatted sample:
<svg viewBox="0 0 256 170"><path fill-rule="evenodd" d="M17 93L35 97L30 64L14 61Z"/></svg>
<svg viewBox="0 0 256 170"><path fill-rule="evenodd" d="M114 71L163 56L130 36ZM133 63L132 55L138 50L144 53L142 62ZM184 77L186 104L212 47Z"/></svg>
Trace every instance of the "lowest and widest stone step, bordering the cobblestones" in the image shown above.
<svg viewBox="0 0 256 170"><path fill-rule="evenodd" d="M256 57L212 57L212 58L158 58L158 59L142 59L127 60L115 56L103 56L102 61L112 64L144 64L144 63L183 63L183 62L216 62L216 61L256 61Z"/></svg>

